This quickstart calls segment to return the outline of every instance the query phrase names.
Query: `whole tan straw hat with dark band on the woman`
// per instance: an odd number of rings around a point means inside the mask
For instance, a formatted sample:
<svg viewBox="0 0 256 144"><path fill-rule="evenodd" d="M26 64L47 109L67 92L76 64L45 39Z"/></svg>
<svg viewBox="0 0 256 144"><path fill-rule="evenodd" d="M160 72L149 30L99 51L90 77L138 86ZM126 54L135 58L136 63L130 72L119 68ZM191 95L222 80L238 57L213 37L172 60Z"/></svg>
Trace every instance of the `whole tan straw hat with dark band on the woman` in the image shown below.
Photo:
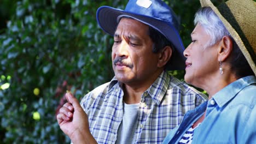
<svg viewBox="0 0 256 144"><path fill-rule="evenodd" d="M215 7L210 0L200 0L202 7L211 7L240 47L256 75L256 2L230 0Z"/></svg>

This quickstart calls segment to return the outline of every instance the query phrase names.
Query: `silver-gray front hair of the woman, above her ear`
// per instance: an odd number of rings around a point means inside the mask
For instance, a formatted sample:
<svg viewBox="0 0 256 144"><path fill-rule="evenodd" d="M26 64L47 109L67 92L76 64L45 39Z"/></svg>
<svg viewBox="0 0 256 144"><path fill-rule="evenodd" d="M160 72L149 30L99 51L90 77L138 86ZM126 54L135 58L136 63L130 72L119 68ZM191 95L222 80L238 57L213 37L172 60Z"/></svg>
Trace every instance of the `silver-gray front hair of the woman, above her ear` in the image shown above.
<svg viewBox="0 0 256 144"><path fill-rule="evenodd" d="M194 25L197 23L200 23L206 33L212 38L206 47L216 44L225 35L230 36L223 22L220 21L219 17L210 7L203 7L196 12Z"/></svg>

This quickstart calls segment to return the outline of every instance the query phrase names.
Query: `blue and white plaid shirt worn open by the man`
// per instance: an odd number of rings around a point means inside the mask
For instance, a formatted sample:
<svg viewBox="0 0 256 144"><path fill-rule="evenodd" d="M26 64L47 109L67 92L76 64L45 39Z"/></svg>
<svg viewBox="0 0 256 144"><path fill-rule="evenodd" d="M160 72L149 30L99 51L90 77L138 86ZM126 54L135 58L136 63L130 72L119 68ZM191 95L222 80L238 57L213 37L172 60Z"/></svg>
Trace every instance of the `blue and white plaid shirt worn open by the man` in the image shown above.
<svg viewBox="0 0 256 144"><path fill-rule="evenodd" d="M91 134L98 143L115 143L123 119L122 83L115 77L86 94L81 101ZM161 143L181 123L184 114L207 99L165 71L141 95L136 143Z"/></svg>

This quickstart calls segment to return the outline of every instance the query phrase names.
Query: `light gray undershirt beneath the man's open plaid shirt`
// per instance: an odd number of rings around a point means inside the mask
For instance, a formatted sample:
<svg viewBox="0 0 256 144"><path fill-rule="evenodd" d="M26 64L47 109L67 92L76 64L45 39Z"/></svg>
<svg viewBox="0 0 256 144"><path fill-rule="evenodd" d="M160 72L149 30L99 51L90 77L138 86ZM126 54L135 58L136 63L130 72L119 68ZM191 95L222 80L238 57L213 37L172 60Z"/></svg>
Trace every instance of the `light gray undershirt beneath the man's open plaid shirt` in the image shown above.
<svg viewBox="0 0 256 144"><path fill-rule="evenodd" d="M125 104L123 121L121 122L116 143L135 143L137 137L135 137L135 130L138 118L139 104Z"/></svg>

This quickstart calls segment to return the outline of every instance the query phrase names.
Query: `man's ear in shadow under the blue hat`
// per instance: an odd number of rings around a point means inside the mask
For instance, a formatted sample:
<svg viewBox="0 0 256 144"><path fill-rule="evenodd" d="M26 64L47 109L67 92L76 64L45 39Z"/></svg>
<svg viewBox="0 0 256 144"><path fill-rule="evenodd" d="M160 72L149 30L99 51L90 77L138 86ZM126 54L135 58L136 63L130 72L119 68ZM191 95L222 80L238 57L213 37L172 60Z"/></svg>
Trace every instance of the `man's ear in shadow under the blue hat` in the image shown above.
<svg viewBox="0 0 256 144"><path fill-rule="evenodd" d="M158 67L164 67L164 65L169 61L169 59L172 56L172 47L171 46L165 46L164 49L159 52L159 58L158 58Z"/></svg>

